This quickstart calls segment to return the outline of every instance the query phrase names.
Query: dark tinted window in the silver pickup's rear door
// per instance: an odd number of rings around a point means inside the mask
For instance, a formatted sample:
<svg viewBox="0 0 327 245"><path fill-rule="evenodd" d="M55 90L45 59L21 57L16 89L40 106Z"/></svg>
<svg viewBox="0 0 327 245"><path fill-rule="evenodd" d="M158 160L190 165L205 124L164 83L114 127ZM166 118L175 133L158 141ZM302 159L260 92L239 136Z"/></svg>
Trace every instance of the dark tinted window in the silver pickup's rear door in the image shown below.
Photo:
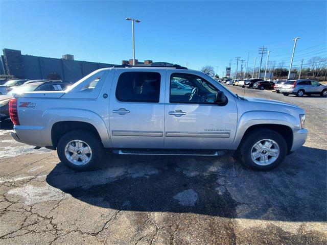
<svg viewBox="0 0 327 245"><path fill-rule="evenodd" d="M123 72L116 86L116 99L122 102L158 103L160 79L158 72Z"/></svg>

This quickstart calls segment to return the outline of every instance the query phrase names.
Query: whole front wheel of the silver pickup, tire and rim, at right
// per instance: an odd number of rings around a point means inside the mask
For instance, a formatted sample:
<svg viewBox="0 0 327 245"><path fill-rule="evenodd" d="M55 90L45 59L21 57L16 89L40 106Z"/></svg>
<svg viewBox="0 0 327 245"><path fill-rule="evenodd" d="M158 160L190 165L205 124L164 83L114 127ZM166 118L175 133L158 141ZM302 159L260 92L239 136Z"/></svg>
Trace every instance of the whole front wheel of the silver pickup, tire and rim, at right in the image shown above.
<svg viewBox="0 0 327 245"><path fill-rule="evenodd" d="M277 167L287 154L284 137L273 130L259 130L242 140L238 157L245 166L266 171Z"/></svg>

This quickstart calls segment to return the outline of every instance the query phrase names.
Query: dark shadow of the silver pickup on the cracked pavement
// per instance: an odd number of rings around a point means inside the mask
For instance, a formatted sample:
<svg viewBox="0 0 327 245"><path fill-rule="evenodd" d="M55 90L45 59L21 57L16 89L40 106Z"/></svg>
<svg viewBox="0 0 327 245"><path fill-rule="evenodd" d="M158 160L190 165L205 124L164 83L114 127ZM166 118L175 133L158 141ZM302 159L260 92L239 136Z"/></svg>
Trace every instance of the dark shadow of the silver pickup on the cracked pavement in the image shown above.
<svg viewBox="0 0 327 245"><path fill-rule="evenodd" d="M75 172L58 163L49 185L82 202L145 212L228 218L326 220L326 151L302 147L269 172L229 156L110 156L99 170Z"/></svg>

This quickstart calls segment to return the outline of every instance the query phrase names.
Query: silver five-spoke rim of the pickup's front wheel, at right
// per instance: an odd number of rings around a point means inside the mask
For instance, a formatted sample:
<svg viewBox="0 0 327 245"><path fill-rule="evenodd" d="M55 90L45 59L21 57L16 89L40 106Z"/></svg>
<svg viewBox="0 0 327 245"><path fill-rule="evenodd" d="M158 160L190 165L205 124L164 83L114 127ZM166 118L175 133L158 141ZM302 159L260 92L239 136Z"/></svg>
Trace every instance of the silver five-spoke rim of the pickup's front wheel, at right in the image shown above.
<svg viewBox="0 0 327 245"><path fill-rule="evenodd" d="M252 161L265 166L273 163L279 156L279 145L272 139L262 139L256 142L251 149Z"/></svg>

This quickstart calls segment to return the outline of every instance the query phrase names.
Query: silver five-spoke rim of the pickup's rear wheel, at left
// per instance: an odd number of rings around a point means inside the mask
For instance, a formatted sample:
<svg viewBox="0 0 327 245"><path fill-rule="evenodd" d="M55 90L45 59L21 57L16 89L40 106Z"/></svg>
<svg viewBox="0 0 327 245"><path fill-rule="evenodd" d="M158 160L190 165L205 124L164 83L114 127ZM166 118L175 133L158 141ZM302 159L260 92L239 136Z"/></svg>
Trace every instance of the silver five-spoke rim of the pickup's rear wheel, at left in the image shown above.
<svg viewBox="0 0 327 245"><path fill-rule="evenodd" d="M67 160L74 165L85 165L92 157L90 146L82 140L74 139L69 141L65 147L65 156Z"/></svg>

